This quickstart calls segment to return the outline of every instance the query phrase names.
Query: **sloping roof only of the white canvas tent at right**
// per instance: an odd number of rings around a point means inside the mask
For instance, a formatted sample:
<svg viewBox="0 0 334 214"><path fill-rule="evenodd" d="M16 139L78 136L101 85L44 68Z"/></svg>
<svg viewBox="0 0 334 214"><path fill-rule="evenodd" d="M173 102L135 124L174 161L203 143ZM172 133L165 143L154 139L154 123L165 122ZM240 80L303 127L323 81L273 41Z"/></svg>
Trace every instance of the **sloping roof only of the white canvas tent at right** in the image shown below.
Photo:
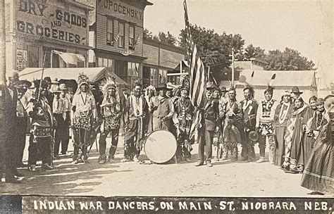
<svg viewBox="0 0 334 214"><path fill-rule="evenodd" d="M273 87L292 87L310 89L316 88L316 78L314 70L242 70L237 84L251 84L256 87L267 87L273 74L276 78Z"/></svg>

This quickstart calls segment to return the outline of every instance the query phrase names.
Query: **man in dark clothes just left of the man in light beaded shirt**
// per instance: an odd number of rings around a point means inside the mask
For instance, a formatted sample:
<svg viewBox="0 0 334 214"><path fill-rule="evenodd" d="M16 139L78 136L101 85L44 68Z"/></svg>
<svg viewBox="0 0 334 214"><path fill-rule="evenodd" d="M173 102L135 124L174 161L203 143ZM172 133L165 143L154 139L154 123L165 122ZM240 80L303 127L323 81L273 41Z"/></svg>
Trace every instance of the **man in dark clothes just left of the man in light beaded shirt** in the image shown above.
<svg viewBox="0 0 334 214"><path fill-rule="evenodd" d="M250 140L248 135L249 132L255 130L256 125L256 112L258 104L254 99L254 89L250 86L245 87L244 89L245 99L240 101L242 106L242 125L243 129L241 131L241 143L242 151L241 156L242 160L253 161L255 160L254 153L254 141Z"/></svg>

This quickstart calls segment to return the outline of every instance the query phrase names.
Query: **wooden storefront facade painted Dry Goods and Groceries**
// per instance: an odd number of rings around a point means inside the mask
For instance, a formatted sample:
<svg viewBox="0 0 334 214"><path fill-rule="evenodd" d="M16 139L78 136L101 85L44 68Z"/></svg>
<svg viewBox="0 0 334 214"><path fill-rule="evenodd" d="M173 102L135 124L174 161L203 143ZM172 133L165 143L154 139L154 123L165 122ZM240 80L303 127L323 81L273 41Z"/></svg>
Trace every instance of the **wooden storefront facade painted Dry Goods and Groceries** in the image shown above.
<svg viewBox="0 0 334 214"><path fill-rule="evenodd" d="M6 68L66 68L54 51L88 58L91 6L74 0L6 0ZM52 63L52 65L51 65ZM78 63L87 67L88 60Z"/></svg>

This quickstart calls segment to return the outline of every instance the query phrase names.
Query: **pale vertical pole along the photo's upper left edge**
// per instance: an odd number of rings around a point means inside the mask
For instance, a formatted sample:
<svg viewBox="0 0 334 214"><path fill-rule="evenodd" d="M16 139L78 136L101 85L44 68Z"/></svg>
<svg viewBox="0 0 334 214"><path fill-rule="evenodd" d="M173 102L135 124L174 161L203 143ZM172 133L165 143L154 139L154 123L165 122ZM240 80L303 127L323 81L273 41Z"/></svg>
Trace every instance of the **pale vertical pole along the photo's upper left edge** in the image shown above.
<svg viewBox="0 0 334 214"><path fill-rule="evenodd" d="M5 0L0 0L0 84L6 84Z"/></svg>

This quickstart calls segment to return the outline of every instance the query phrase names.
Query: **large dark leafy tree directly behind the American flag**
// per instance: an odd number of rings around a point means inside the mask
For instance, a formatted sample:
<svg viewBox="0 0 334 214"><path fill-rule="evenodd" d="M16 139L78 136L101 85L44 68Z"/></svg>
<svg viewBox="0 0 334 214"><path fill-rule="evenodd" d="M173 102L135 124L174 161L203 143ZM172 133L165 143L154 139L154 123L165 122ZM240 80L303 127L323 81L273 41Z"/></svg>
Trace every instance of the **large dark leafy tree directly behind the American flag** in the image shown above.
<svg viewBox="0 0 334 214"><path fill-rule="evenodd" d="M218 34L214 30L207 30L205 27L190 25L192 39L197 46L197 51L205 66L210 66L210 70L217 82L223 79L223 69L230 66L230 53L232 48L235 53L241 54L245 40L240 34ZM187 32L180 32L180 46L187 47Z"/></svg>

